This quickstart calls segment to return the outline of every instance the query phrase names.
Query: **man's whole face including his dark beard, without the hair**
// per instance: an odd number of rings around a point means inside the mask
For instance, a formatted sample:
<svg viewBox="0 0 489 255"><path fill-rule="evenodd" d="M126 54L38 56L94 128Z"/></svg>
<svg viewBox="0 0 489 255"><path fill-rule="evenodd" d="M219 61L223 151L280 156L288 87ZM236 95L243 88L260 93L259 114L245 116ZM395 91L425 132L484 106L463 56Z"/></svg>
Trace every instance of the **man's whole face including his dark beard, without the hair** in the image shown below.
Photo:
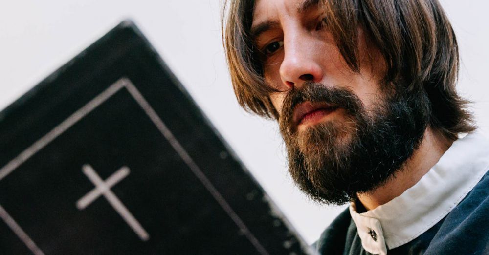
<svg viewBox="0 0 489 255"><path fill-rule="evenodd" d="M257 0L251 33L265 81L280 91L270 99L292 177L312 198L341 204L392 176L426 124L402 93L380 84L383 58L361 29L360 72L349 68L319 2Z"/></svg>

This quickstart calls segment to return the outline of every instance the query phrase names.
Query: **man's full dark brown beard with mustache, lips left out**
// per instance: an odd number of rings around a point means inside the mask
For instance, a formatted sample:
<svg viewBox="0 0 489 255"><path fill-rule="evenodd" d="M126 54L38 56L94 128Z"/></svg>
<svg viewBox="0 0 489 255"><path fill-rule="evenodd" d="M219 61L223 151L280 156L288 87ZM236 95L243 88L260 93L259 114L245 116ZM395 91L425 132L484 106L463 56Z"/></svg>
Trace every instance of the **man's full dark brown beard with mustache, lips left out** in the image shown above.
<svg viewBox="0 0 489 255"><path fill-rule="evenodd" d="M419 99L386 93L367 112L346 88L306 83L290 90L279 125L292 178L312 199L338 205L384 184L422 141L429 109ZM327 103L340 116L298 132L293 109L306 101Z"/></svg>

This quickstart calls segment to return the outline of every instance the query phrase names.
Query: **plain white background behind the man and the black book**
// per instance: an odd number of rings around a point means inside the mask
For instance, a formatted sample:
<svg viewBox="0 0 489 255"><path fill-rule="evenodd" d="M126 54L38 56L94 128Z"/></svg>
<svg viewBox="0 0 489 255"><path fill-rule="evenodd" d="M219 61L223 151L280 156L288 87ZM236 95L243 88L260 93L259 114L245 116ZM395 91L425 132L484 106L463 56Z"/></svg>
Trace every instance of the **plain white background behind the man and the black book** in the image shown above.
<svg viewBox="0 0 489 255"><path fill-rule="evenodd" d="M489 27L485 0L443 0L459 39L462 95L489 130ZM235 101L221 42L219 0L0 2L0 108L8 106L119 21L130 18L308 243L343 207L318 205L287 174L277 125ZM1 152L0 152L1 153Z"/></svg>

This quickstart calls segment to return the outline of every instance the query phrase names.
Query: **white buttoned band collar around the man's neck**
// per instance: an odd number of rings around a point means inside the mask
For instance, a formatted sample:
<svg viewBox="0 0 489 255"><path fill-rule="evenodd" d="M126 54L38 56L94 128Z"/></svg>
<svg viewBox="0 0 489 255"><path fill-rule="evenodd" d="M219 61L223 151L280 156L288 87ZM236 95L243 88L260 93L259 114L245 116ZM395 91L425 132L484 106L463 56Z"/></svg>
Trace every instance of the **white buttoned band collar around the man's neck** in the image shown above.
<svg viewBox="0 0 489 255"><path fill-rule="evenodd" d="M458 139L413 187L374 210L350 214L363 248L385 255L442 220L489 169L489 140L478 132Z"/></svg>

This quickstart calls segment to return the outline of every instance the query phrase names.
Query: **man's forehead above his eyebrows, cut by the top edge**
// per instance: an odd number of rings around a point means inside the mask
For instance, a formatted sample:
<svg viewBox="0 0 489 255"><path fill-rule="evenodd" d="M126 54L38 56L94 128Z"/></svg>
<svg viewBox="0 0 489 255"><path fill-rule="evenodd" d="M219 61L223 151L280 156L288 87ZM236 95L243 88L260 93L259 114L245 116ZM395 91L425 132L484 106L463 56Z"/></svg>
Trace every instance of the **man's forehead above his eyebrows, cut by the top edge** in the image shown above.
<svg viewBox="0 0 489 255"><path fill-rule="evenodd" d="M316 7L319 2L320 0L256 0L253 6L253 23L296 16Z"/></svg>

